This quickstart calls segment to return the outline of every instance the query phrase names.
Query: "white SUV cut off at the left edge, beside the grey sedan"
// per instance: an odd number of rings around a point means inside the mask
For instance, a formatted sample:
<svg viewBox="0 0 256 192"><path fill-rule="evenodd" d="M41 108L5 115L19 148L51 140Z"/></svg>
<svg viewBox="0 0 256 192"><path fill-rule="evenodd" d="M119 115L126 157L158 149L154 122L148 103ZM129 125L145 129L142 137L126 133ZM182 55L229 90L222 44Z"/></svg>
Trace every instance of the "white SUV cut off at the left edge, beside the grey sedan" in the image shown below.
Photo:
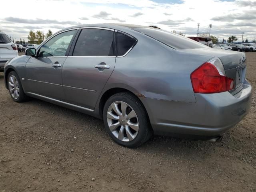
<svg viewBox="0 0 256 192"><path fill-rule="evenodd" d="M0 71L4 71L5 63L16 56L18 56L17 46L6 34L0 32Z"/></svg>

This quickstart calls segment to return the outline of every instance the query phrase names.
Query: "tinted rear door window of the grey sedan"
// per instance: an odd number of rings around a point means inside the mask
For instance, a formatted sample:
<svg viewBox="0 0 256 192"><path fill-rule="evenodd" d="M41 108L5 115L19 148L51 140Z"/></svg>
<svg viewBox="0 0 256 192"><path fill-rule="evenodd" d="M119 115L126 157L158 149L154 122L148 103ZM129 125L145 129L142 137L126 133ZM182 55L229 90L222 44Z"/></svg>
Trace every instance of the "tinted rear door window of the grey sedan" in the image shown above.
<svg viewBox="0 0 256 192"><path fill-rule="evenodd" d="M78 37L73 56L113 56L113 31L83 29Z"/></svg>

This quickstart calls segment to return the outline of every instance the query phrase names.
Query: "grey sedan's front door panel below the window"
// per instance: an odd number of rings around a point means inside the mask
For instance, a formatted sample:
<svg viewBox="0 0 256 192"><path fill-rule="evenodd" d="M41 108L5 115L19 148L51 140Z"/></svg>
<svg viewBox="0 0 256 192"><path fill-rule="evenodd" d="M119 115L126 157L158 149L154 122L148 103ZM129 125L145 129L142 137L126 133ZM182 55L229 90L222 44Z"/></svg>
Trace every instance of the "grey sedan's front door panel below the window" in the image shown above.
<svg viewBox="0 0 256 192"><path fill-rule="evenodd" d="M30 58L26 63L27 91L64 100L62 66L65 60L66 56ZM52 66L56 63L61 66Z"/></svg>

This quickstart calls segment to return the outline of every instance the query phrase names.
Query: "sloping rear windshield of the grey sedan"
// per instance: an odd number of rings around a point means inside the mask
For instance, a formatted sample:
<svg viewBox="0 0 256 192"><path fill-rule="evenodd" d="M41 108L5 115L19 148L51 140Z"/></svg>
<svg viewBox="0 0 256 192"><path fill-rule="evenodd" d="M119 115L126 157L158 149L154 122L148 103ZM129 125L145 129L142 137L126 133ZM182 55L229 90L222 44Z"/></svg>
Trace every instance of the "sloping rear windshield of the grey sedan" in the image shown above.
<svg viewBox="0 0 256 192"><path fill-rule="evenodd" d="M198 49L207 47L195 40L161 29L134 28L134 30L150 36L174 49Z"/></svg>

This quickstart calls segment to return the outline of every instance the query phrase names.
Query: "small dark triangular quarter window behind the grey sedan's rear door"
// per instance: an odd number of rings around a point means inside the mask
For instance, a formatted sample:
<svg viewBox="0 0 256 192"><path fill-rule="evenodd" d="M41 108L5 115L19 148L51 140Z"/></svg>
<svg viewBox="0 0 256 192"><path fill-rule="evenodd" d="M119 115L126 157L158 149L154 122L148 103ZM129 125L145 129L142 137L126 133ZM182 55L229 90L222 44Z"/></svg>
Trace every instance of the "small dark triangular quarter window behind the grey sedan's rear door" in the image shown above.
<svg viewBox="0 0 256 192"><path fill-rule="evenodd" d="M128 52L130 48L135 44L134 38L128 37L122 33L116 33L117 55L122 56Z"/></svg>

